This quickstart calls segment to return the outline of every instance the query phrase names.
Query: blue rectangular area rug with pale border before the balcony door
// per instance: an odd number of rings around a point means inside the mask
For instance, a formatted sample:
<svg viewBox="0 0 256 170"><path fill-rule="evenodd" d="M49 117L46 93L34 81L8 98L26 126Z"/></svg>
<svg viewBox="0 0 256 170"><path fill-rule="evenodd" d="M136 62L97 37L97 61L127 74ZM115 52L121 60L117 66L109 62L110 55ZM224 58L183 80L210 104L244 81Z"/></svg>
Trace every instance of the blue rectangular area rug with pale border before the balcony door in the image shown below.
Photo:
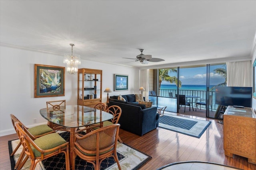
<svg viewBox="0 0 256 170"><path fill-rule="evenodd" d="M202 136L210 124L210 121L176 115L165 114L159 118L159 127L197 138Z"/></svg>

